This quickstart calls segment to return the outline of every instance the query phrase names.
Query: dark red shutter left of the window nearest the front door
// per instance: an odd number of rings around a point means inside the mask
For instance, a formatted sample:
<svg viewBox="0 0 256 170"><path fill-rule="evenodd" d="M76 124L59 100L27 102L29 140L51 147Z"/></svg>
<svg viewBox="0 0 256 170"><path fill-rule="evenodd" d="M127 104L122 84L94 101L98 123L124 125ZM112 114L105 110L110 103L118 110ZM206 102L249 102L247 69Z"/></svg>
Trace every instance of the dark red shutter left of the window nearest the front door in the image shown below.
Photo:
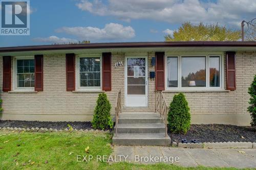
<svg viewBox="0 0 256 170"><path fill-rule="evenodd" d="M75 54L66 54L67 91L75 90Z"/></svg>

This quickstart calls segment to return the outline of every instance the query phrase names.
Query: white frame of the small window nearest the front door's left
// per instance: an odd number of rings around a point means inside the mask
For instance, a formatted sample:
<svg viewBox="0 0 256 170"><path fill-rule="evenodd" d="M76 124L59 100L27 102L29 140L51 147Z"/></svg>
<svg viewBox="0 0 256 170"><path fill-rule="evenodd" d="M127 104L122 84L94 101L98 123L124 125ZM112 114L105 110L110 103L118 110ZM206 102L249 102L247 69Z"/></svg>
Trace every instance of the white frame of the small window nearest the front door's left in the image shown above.
<svg viewBox="0 0 256 170"><path fill-rule="evenodd" d="M100 86L99 87L81 87L80 86L80 58L100 58ZM76 90L77 91L98 91L102 89L102 55L82 54L76 57Z"/></svg>

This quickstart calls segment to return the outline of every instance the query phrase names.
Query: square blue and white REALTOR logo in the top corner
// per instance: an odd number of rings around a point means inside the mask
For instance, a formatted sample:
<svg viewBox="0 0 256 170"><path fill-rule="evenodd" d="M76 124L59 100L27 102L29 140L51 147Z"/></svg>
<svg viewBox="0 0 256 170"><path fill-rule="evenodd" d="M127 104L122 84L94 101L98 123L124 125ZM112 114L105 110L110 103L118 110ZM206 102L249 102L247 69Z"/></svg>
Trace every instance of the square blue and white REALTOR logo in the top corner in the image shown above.
<svg viewBox="0 0 256 170"><path fill-rule="evenodd" d="M30 35L29 1L1 1L1 34Z"/></svg>

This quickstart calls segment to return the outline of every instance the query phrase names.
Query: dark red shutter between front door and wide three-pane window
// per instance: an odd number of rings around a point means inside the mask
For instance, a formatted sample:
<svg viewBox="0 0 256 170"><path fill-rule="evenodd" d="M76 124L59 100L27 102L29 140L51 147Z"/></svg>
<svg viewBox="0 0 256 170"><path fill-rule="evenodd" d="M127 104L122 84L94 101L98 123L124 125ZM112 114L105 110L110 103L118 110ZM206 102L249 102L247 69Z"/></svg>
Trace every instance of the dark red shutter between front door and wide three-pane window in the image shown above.
<svg viewBox="0 0 256 170"><path fill-rule="evenodd" d="M156 52L156 90L164 90L164 52Z"/></svg>

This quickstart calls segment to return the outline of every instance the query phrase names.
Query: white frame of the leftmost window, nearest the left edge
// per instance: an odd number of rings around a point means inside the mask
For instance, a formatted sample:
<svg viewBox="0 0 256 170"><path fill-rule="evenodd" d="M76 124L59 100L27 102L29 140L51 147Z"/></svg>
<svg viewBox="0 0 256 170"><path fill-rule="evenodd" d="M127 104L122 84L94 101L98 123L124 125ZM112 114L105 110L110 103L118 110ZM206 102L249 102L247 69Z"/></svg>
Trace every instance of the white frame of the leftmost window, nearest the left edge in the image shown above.
<svg viewBox="0 0 256 170"><path fill-rule="evenodd" d="M18 56L13 59L13 91L35 91L35 87L17 87L17 60L35 59L34 56ZM35 72L34 72L35 74Z"/></svg>

